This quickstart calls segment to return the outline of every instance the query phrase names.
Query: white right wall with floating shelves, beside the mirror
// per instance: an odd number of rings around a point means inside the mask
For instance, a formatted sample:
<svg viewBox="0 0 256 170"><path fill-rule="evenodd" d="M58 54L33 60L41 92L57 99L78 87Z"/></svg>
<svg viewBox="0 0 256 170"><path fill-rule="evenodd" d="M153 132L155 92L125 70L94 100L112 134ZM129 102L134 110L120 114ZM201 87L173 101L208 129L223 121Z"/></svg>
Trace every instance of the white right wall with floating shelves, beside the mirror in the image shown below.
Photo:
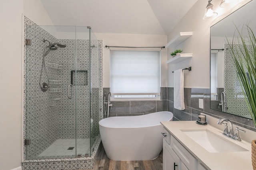
<svg viewBox="0 0 256 170"><path fill-rule="evenodd" d="M168 49L168 54L174 49L183 49L183 53L193 53L193 57L178 64L168 64L168 87L173 87L173 70L192 67L192 71L184 71L184 86L186 88L210 88L210 27L234 12L240 4L250 0L239 0L234 6L220 8L221 0L214 0L212 4L218 16L212 20L203 20L206 0L198 0L180 22L168 35L170 41L179 32L193 31L193 35L177 47Z"/></svg>

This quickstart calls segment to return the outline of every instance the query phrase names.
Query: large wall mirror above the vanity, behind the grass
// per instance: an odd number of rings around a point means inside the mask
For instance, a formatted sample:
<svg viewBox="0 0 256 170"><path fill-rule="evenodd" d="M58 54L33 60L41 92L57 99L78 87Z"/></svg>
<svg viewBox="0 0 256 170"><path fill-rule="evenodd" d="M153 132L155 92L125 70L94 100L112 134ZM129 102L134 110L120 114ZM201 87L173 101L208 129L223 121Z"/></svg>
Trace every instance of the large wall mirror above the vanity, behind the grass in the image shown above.
<svg viewBox="0 0 256 170"><path fill-rule="evenodd" d="M256 0L242 6L210 28L210 108L251 119L226 40L238 31L246 36L245 25L256 33ZM239 44L236 44L239 46Z"/></svg>

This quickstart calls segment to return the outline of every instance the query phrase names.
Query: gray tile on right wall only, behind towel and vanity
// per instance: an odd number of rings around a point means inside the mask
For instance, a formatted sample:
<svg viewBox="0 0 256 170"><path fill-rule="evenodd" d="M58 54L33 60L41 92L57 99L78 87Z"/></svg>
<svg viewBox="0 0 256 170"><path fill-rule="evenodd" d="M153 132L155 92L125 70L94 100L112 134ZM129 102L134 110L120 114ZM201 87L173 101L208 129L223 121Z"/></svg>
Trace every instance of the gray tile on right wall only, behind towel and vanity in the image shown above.
<svg viewBox="0 0 256 170"><path fill-rule="evenodd" d="M184 110L174 109L173 90L172 87L168 87L168 111L174 114L173 121L196 121L198 114L205 113L206 115L211 115L219 119L230 119L236 125L256 131L252 119L210 109L210 89L184 88ZM204 109L199 108L198 99L204 100Z"/></svg>

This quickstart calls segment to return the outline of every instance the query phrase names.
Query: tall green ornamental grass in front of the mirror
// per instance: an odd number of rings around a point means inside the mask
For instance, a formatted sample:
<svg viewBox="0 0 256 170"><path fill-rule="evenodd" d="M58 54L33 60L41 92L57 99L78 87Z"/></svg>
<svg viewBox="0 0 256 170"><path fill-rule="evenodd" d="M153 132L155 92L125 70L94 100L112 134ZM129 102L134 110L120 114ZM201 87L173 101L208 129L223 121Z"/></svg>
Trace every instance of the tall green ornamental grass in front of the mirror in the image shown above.
<svg viewBox="0 0 256 170"><path fill-rule="evenodd" d="M253 30L244 25L240 30L236 27L238 37L226 38L228 51L232 55L238 79L244 88L244 98L256 127L256 38ZM246 32L246 35L243 33Z"/></svg>

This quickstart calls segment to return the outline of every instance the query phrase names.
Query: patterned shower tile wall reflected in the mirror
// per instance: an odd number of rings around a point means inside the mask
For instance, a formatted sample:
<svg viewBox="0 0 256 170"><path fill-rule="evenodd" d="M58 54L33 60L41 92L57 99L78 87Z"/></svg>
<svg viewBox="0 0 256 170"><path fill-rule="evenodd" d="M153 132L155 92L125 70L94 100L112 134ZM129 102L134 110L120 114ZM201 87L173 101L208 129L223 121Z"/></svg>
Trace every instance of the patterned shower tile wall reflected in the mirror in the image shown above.
<svg viewBox="0 0 256 170"><path fill-rule="evenodd" d="M225 44L225 49L227 48L228 45ZM232 62L232 56L230 52L226 50L224 54L224 92L226 92L227 96L228 112L251 119L242 92L242 86L240 86L236 68Z"/></svg>

